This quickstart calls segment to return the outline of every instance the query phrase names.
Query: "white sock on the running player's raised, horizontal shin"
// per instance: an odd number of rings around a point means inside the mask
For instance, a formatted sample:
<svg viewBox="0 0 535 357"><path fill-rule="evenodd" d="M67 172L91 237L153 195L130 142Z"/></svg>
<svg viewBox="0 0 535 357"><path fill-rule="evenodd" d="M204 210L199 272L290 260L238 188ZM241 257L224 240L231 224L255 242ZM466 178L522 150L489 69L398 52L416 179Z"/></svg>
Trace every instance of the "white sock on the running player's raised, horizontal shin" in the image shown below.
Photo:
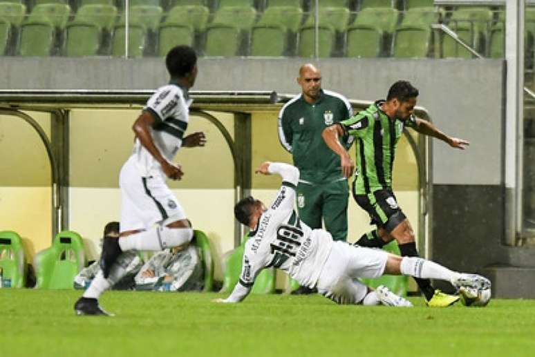
<svg viewBox="0 0 535 357"><path fill-rule="evenodd" d="M166 248L178 247L190 242L191 238L193 238L193 229L191 228L154 226L147 231L119 238L119 245L123 251L132 249L137 251L162 251Z"/></svg>

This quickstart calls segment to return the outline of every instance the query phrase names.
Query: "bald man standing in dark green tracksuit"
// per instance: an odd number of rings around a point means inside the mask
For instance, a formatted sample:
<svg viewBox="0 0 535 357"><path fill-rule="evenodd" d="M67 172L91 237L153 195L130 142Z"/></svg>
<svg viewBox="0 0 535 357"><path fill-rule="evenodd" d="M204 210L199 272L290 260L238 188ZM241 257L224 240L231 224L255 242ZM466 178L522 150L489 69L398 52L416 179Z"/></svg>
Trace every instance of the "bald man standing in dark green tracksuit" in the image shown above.
<svg viewBox="0 0 535 357"><path fill-rule="evenodd" d="M292 153L294 165L301 171L297 186L299 217L312 229L325 229L334 240L346 240L348 234L348 182L341 175L340 159L321 138L326 127L353 115L344 96L321 89L321 72L312 64L299 68L297 83L302 93L286 103L279 113L279 139ZM353 137L341 139L348 149ZM309 293L299 288L294 293Z"/></svg>

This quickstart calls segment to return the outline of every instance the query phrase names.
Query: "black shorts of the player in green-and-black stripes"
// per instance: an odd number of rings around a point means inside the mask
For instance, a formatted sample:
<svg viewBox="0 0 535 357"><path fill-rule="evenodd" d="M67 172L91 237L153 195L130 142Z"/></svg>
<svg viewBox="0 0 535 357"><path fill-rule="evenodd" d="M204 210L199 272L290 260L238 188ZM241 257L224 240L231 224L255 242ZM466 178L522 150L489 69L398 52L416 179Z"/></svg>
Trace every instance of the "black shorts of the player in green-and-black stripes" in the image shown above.
<svg viewBox="0 0 535 357"><path fill-rule="evenodd" d="M368 195L356 195L355 186L353 186L352 192L357 204L370 215L370 224L383 227L390 233L406 220L391 189L377 190Z"/></svg>

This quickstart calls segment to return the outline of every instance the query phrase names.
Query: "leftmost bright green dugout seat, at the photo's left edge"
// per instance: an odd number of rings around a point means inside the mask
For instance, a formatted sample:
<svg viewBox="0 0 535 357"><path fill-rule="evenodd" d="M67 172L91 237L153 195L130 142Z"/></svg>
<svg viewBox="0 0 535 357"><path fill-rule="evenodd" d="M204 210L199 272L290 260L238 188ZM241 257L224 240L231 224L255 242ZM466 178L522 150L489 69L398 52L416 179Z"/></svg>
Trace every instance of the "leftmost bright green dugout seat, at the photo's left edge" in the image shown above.
<svg viewBox="0 0 535 357"><path fill-rule="evenodd" d="M26 284L26 258L21 236L14 231L0 232L0 267L3 286L9 280L10 287L24 287Z"/></svg>

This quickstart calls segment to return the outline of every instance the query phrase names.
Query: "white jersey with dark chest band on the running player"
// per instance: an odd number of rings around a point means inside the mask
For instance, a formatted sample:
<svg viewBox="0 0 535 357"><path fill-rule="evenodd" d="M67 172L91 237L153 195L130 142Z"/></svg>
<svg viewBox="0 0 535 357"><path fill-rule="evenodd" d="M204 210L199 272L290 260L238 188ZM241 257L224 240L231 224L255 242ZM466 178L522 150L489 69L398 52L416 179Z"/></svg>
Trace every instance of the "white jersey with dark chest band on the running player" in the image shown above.
<svg viewBox="0 0 535 357"><path fill-rule="evenodd" d="M177 84L167 84L158 88L147 101L147 106L143 108L156 120L151 128L152 139L162 156L169 162L172 162L182 146L191 102L187 89ZM163 175L160 163L142 146L138 138L135 139L132 155L143 177Z"/></svg>

